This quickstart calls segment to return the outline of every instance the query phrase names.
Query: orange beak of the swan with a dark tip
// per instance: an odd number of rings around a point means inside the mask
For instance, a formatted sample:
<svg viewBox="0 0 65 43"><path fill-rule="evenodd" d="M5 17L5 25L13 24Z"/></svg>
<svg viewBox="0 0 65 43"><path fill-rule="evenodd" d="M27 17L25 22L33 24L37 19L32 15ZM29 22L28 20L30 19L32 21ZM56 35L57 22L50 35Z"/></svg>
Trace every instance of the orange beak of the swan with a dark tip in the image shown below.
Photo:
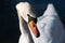
<svg viewBox="0 0 65 43"><path fill-rule="evenodd" d="M34 20L29 22L29 27L30 27L32 33L35 34L35 37L38 38L40 35L40 33L39 33L37 25L35 24Z"/></svg>

